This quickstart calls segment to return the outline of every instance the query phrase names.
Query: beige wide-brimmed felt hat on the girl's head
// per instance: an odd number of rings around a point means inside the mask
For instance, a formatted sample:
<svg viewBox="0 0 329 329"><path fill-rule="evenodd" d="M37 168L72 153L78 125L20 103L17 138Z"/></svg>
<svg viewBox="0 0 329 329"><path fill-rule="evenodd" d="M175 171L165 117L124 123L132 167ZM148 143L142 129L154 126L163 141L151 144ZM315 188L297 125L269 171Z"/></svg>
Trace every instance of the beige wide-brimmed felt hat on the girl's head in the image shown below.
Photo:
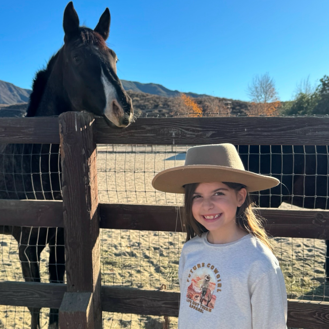
<svg viewBox="0 0 329 329"><path fill-rule="evenodd" d="M272 188L280 183L274 177L244 169L233 144L213 144L190 147L185 165L165 169L152 180L159 191L184 193L184 185L205 182L230 182L246 186L248 192Z"/></svg>

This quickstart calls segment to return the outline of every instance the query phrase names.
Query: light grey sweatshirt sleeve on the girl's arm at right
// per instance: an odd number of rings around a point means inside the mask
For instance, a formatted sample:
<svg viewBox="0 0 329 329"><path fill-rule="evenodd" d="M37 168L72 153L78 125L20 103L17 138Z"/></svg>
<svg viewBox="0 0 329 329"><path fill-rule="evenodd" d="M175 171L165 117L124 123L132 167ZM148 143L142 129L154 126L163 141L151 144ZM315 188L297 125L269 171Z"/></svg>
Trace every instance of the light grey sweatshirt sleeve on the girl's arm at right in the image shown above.
<svg viewBox="0 0 329 329"><path fill-rule="evenodd" d="M287 328L287 291L279 268L271 270L257 282L251 307L253 329Z"/></svg>

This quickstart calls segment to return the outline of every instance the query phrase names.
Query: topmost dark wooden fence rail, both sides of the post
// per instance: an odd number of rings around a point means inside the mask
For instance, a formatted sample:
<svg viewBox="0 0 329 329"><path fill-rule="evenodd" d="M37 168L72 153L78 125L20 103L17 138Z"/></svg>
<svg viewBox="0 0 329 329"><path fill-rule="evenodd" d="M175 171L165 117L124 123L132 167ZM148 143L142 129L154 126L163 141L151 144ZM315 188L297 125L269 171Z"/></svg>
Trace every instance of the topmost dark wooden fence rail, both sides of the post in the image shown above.
<svg viewBox="0 0 329 329"><path fill-rule="evenodd" d="M59 144L58 123L58 118L0 118L0 143ZM97 144L329 144L329 117L138 118L125 129L110 128L99 117L95 123Z"/></svg>

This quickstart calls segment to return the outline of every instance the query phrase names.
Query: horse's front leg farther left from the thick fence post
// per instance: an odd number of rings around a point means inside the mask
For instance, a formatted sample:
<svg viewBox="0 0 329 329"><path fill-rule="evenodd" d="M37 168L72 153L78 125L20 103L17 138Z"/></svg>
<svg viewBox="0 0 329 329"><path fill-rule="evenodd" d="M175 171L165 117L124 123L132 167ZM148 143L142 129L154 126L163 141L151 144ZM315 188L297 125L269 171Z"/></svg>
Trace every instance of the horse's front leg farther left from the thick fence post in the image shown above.
<svg viewBox="0 0 329 329"><path fill-rule="evenodd" d="M42 238L38 230L30 227L14 227L13 230L13 236L18 242L19 260L21 261L22 273L26 282L40 282L38 262L44 245L42 246ZM37 248L38 244L40 245ZM28 307L28 309L31 313L31 329L39 329L40 308Z"/></svg>

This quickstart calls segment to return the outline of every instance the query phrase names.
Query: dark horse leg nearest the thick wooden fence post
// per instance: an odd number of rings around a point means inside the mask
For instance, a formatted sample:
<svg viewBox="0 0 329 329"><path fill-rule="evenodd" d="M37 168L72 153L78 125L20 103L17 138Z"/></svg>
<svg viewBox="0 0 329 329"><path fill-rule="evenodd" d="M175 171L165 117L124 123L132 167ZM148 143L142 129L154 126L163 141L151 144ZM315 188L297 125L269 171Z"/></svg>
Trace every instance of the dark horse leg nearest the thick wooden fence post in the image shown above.
<svg viewBox="0 0 329 329"><path fill-rule="evenodd" d="M52 283L63 283L65 273L64 229L49 240L49 276ZM58 309L50 309L48 329L58 329Z"/></svg>

